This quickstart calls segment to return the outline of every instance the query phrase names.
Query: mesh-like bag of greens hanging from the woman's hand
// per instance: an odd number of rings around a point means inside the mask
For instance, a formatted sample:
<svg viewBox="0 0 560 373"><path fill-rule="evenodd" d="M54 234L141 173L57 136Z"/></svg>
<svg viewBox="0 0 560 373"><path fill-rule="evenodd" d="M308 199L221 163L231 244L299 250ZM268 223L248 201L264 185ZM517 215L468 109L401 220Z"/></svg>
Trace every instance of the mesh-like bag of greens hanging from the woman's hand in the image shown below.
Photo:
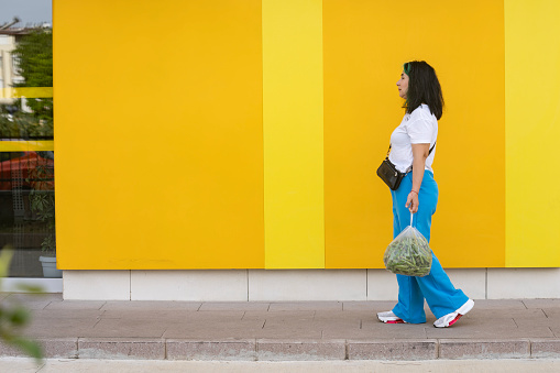
<svg viewBox="0 0 560 373"><path fill-rule="evenodd" d="M431 249L428 240L410 226L389 243L383 255L385 267L396 274L422 277L431 270Z"/></svg>

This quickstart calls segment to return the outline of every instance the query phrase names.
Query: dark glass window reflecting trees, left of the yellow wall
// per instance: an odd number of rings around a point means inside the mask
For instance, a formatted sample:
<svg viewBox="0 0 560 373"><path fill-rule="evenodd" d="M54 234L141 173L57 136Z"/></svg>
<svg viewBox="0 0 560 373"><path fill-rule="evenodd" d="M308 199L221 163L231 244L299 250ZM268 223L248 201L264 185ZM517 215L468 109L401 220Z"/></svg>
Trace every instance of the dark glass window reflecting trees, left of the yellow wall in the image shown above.
<svg viewBox="0 0 560 373"><path fill-rule="evenodd" d="M23 1L2 6L0 23L14 15L21 22L11 26L19 30L15 50L4 58L12 62L11 81L0 87L52 87L52 29L44 24L52 23L52 6L45 4L46 15ZM61 272L43 267L44 257L56 260L53 98L30 96L0 101L0 250L14 249L11 277L54 277Z"/></svg>

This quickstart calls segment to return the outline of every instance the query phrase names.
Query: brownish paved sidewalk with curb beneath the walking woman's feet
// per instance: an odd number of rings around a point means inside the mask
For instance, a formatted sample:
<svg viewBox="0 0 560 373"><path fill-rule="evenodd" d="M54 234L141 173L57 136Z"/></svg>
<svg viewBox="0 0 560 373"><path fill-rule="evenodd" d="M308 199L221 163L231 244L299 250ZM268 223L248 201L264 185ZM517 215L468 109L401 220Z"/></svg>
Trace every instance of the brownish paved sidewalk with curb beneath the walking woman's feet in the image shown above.
<svg viewBox="0 0 560 373"><path fill-rule="evenodd" d="M447 329L385 325L394 301L63 300L0 294L33 310L47 358L212 361L560 359L560 299L475 300ZM0 344L0 356L18 356Z"/></svg>

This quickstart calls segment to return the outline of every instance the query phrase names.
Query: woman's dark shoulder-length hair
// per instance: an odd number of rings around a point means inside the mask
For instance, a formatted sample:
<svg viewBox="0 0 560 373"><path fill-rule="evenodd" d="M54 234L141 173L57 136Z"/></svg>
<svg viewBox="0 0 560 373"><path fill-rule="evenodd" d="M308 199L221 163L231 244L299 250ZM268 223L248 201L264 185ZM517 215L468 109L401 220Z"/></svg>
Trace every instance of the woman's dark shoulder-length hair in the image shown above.
<svg viewBox="0 0 560 373"><path fill-rule="evenodd" d="M425 61L411 61L403 65L408 75L408 92L403 108L411 113L421 103L428 105L430 111L439 120L443 113L443 94L433 67Z"/></svg>

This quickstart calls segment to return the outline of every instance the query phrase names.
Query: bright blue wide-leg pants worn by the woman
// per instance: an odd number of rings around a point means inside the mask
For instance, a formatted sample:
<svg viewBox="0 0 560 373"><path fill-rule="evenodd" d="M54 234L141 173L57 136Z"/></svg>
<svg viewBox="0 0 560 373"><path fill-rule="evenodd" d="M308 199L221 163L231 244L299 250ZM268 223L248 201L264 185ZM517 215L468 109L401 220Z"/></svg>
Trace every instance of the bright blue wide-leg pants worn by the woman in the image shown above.
<svg viewBox="0 0 560 373"><path fill-rule="evenodd" d="M393 237L396 238L410 224L410 211L405 207L406 198L413 188L413 173L408 173L397 190L391 190L393 197ZM438 205L438 184L430 171L425 171L418 194L418 211L414 215L413 226L430 241L431 216ZM443 267L432 253L431 271L427 276L397 275L398 304L393 312L410 323L426 322L424 299L436 318L453 312L469 300L460 289L455 289Z"/></svg>

